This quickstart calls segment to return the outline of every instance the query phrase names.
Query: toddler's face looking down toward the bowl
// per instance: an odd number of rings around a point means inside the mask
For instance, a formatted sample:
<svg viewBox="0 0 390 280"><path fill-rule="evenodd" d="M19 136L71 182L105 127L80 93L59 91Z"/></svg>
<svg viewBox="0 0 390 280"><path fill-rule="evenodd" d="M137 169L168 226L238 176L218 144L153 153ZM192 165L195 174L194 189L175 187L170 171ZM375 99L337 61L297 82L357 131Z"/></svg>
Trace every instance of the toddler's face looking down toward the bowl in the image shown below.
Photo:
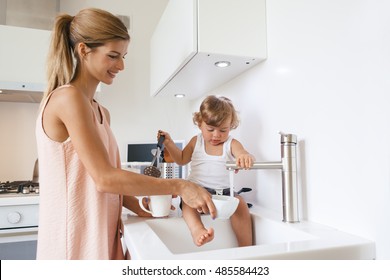
<svg viewBox="0 0 390 280"><path fill-rule="evenodd" d="M231 119L229 118L225 120L220 126L212 126L202 122L199 128L202 132L205 142L213 146L218 146L229 138L230 126Z"/></svg>

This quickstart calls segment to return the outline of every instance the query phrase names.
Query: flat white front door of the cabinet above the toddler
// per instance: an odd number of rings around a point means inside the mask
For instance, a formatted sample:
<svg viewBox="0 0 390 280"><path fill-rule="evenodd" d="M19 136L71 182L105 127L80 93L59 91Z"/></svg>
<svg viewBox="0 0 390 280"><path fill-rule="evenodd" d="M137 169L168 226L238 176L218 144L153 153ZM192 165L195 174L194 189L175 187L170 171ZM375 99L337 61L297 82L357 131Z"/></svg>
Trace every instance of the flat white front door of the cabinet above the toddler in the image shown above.
<svg viewBox="0 0 390 280"><path fill-rule="evenodd" d="M198 52L264 57L265 39L264 0L198 0Z"/></svg>

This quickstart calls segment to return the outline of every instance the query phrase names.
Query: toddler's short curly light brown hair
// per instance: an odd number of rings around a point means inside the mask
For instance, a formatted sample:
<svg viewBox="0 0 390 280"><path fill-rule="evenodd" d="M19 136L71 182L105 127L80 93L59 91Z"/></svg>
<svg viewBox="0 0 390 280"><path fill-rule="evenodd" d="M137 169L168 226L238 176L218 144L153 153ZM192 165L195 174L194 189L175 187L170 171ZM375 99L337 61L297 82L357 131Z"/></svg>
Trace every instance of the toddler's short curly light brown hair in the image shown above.
<svg viewBox="0 0 390 280"><path fill-rule="evenodd" d="M199 112L194 113L193 122L197 126L202 122L211 126L220 126L228 118L231 118L230 129L237 128L239 119L232 101L227 97L209 95L200 104Z"/></svg>

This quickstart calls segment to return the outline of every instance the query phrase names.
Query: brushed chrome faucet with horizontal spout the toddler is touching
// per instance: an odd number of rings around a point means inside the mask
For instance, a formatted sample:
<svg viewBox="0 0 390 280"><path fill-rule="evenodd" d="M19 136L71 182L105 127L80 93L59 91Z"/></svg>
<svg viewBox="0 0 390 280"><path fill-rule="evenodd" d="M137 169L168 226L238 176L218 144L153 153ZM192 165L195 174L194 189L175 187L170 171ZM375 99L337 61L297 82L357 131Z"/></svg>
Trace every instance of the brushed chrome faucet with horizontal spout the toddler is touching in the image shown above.
<svg viewBox="0 0 390 280"><path fill-rule="evenodd" d="M282 170L282 206L283 222L299 222L298 213L298 181L297 181L297 136L280 133L281 161L255 162L253 169ZM234 161L226 162L226 169L239 169Z"/></svg>

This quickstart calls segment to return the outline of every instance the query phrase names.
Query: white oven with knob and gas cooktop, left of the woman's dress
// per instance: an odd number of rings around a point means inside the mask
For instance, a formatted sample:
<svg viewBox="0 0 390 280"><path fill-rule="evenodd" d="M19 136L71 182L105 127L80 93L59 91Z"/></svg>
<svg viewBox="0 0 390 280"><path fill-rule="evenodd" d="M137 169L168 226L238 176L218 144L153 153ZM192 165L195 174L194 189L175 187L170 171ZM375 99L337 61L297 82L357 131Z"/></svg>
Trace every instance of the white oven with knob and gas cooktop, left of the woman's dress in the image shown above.
<svg viewBox="0 0 390 280"><path fill-rule="evenodd" d="M36 259L39 184L0 182L0 259Z"/></svg>

